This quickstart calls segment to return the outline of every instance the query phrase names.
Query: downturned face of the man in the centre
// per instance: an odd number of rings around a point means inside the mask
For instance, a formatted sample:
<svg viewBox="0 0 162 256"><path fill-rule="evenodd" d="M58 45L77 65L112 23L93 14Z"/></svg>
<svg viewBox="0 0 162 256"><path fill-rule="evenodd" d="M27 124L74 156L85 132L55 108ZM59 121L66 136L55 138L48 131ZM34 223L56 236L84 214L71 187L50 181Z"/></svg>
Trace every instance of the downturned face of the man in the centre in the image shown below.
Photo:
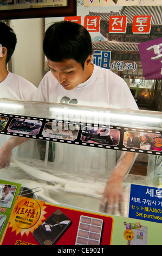
<svg viewBox="0 0 162 256"><path fill-rule="evenodd" d="M48 59L48 66L61 86L66 90L72 90L92 75L90 62L91 56L87 58L83 69L82 65L74 59L65 59L63 62L51 62Z"/></svg>

